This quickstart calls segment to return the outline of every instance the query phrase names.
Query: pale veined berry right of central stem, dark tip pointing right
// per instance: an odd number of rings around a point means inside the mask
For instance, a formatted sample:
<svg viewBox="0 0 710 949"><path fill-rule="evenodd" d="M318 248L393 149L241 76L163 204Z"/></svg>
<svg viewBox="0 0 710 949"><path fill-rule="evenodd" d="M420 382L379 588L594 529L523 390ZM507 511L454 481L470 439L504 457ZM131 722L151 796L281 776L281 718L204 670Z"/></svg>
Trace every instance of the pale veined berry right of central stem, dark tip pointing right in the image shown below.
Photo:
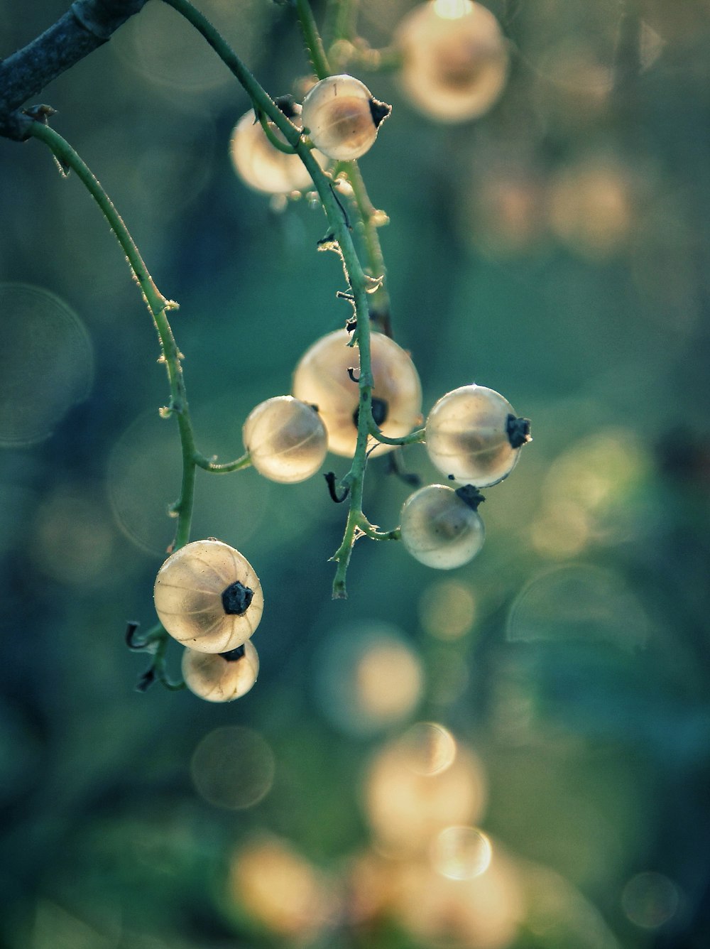
<svg viewBox="0 0 710 949"><path fill-rule="evenodd" d="M518 419L500 393L463 385L435 403L427 419L428 456L442 474L485 488L513 471L530 422Z"/></svg>

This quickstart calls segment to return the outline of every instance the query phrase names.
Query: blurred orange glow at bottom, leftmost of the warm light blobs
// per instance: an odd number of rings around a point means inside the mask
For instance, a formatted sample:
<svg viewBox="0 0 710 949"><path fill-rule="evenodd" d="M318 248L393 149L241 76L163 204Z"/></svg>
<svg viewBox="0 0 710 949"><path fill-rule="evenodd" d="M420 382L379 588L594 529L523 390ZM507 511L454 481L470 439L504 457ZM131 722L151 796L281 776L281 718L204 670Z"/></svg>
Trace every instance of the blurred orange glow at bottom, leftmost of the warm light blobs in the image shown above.
<svg viewBox="0 0 710 949"><path fill-rule="evenodd" d="M316 868L277 838L254 840L234 855L228 891L250 917L287 939L313 939L337 916L337 900Z"/></svg>

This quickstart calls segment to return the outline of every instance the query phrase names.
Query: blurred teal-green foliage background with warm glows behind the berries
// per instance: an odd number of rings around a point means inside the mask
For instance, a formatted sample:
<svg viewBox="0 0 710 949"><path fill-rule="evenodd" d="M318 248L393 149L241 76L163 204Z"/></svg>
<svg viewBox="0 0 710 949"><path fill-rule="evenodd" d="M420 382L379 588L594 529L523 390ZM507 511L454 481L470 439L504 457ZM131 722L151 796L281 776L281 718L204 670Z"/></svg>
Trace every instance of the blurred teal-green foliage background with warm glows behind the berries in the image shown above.
<svg viewBox="0 0 710 949"><path fill-rule="evenodd" d="M362 34L389 43L411 6L362 0ZM66 7L5 0L0 53ZM272 94L300 94L288 5L201 9ZM346 603L320 477L200 473L193 536L242 550L266 596L259 682L225 707L133 691L146 661L123 630L154 622L179 477L155 333L79 183L37 142L0 141L8 949L710 943L710 9L491 9L511 43L501 102L436 126L395 75L362 73L393 113L361 167L426 409L475 380L535 441L486 492L473 563L435 574L361 541ZM180 302L201 451L240 454L249 410L347 316L322 215L236 179L246 94L157 0L41 99ZM420 447L405 462L437 480ZM394 526L407 493L373 459L373 521ZM473 880L375 847L374 756L416 721L454 736L463 792L480 786L454 821L492 841Z"/></svg>

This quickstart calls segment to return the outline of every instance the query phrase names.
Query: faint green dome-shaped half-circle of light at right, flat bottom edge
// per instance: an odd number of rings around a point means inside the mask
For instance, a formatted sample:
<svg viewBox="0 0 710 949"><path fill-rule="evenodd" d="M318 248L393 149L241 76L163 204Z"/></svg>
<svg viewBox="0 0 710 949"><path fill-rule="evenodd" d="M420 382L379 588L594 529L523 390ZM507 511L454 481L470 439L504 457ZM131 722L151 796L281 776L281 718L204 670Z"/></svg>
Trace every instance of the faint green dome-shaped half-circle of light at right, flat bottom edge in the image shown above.
<svg viewBox="0 0 710 949"><path fill-rule="evenodd" d="M585 564L544 570L511 607L512 642L608 641L623 649L646 643L649 623L623 577Z"/></svg>

